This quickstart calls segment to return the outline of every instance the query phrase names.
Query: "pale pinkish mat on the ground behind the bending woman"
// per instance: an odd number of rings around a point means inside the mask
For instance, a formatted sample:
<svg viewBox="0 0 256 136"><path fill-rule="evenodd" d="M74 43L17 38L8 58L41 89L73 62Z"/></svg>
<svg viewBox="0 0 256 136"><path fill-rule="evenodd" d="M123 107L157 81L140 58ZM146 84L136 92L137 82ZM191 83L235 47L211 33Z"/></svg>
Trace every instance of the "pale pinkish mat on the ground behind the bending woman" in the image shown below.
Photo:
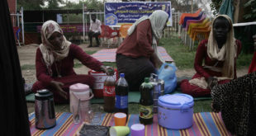
<svg viewBox="0 0 256 136"><path fill-rule="evenodd" d="M162 59L167 62L173 62L174 60L170 55L167 54L164 47L158 46L159 54ZM101 62L116 62L116 49L101 49L96 53L92 54L92 57Z"/></svg>

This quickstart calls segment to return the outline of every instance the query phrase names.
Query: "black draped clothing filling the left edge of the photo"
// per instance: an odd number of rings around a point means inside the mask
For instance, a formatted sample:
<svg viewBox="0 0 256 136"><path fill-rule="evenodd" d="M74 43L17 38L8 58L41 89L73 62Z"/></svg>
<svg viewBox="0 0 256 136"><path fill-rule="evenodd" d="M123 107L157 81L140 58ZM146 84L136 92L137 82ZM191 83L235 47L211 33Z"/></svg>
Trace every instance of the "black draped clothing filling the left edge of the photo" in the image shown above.
<svg viewBox="0 0 256 136"><path fill-rule="evenodd" d="M7 0L0 1L0 135L31 135Z"/></svg>

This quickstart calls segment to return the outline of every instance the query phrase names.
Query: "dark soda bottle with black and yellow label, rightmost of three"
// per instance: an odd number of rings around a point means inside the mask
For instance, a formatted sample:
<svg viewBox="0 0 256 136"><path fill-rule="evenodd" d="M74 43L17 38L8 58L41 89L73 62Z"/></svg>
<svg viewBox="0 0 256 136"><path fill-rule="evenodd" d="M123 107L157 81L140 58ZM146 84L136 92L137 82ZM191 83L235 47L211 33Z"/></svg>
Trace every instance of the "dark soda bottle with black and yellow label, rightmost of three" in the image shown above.
<svg viewBox="0 0 256 136"><path fill-rule="evenodd" d="M145 82L140 86L140 123L153 123L153 85L149 82L149 77L145 77Z"/></svg>

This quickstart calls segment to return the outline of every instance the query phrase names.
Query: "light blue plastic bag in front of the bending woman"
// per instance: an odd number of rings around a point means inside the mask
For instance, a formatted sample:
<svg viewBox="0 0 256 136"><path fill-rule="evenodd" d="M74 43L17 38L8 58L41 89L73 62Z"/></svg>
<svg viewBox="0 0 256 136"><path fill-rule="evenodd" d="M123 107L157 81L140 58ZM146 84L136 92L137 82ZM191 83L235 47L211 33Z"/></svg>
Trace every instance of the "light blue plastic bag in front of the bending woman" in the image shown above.
<svg viewBox="0 0 256 136"><path fill-rule="evenodd" d="M164 80L164 93L170 93L177 87L177 68L173 63L164 63L158 70L159 79Z"/></svg>

